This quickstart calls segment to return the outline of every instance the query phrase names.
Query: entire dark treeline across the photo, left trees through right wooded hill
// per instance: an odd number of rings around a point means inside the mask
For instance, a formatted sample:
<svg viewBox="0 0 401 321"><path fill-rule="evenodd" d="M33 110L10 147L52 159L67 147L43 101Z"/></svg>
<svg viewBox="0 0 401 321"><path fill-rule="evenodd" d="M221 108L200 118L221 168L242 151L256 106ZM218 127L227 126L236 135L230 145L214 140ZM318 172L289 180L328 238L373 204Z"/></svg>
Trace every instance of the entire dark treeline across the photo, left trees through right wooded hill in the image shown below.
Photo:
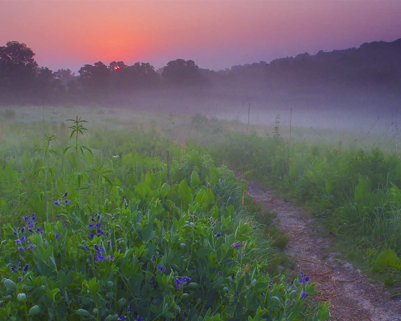
<svg viewBox="0 0 401 321"><path fill-rule="evenodd" d="M176 59L157 72L150 63L126 65L112 61L86 64L77 74L70 69L38 67L34 52L24 43L0 47L0 105L102 102L108 104L138 92L204 90L224 95L247 91L313 91L365 88L401 92L401 39L376 41L359 48L319 51L296 57L237 65L213 71L194 61Z"/></svg>

